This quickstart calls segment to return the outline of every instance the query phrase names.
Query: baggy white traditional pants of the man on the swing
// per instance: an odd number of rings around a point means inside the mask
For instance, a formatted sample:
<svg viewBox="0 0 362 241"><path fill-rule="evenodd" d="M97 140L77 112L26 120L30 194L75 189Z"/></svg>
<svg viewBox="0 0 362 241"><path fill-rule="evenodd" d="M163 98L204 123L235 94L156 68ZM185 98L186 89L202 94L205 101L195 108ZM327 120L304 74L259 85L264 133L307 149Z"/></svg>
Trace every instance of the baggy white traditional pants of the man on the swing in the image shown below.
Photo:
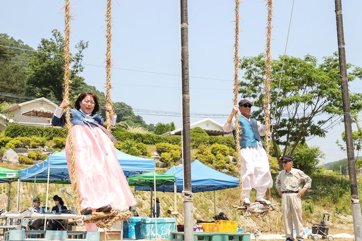
<svg viewBox="0 0 362 241"><path fill-rule="evenodd" d="M250 198L252 188L256 190L256 200L264 197L266 189L273 187L269 161L262 145L245 147L240 150L241 175L244 198Z"/></svg>

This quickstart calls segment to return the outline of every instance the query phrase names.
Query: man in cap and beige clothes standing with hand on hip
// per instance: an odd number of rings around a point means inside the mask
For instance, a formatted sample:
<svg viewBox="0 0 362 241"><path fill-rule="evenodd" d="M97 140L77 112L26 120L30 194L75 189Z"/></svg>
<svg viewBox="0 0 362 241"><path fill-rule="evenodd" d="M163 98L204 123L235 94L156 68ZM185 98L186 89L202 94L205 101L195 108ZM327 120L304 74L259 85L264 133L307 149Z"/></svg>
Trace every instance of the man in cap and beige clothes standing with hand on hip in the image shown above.
<svg viewBox="0 0 362 241"><path fill-rule="evenodd" d="M276 179L276 188L282 197L282 214L286 240L293 241L293 221L298 241L303 238L301 197L311 187L312 179L303 171L293 167L293 155L283 155L281 162L284 170Z"/></svg>

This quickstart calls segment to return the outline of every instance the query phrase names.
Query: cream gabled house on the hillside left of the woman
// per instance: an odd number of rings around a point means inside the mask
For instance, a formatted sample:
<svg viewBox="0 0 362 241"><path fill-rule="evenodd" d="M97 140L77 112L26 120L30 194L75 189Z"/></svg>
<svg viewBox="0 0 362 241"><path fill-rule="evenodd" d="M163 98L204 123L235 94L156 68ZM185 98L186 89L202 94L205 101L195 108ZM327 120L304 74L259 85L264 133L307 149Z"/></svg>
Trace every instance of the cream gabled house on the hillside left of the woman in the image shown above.
<svg viewBox="0 0 362 241"><path fill-rule="evenodd" d="M19 125L50 127L50 121L57 105L42 97L16 104L4 110L0 118ZM11 119L5 113L12 113Z"/></svg>

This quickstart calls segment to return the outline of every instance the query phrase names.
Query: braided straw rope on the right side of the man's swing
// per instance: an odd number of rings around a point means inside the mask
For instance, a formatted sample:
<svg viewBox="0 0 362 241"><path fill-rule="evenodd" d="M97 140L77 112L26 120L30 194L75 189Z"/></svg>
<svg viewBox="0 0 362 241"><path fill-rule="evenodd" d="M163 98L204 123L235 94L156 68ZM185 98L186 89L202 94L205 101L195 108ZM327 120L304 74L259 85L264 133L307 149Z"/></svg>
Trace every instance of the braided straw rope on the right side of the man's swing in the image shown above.
<svg viewBox="0 0 362 241"><path fill-rule="evenodd" d="M273 0L267 0L267 26L266 26L266 71L265 71L265 81L264 81L264 125L265 125L265 152L266 156L270 156L270 141L269 136L270 132L270 65L272 64L272 56L270 55L270 38L272 35L272 10L273 10ZM270 190L267 189L266 198L269 199Z"/></svg>

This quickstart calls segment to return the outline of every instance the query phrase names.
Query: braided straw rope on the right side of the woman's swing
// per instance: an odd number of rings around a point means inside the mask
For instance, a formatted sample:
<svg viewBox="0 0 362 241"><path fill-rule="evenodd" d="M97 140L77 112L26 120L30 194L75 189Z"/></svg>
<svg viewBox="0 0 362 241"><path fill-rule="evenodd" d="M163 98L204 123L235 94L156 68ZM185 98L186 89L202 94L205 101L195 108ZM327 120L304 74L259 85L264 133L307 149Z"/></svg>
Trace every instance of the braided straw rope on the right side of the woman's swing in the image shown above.
<svg viewBox="0 0 362 241"><path fill-rule="evenodd" d="M112 85L111 85L111 67L112 67L112 59L111 59L111 43L112 43L112 33L111 33L111 28L112 28L112 0L107 0L107 14L106 14L106 21L107 21L107 52L106 52L106 73L107 73L107 78L106 78L106 105L110 104L112 105L112 101L111 101L111 89L112 89ZM113 113L109 113L108 111L106 111L106 122L105 125L108 129L108 131L112 130L112 126L111 126L111 115Z"/></svg>

